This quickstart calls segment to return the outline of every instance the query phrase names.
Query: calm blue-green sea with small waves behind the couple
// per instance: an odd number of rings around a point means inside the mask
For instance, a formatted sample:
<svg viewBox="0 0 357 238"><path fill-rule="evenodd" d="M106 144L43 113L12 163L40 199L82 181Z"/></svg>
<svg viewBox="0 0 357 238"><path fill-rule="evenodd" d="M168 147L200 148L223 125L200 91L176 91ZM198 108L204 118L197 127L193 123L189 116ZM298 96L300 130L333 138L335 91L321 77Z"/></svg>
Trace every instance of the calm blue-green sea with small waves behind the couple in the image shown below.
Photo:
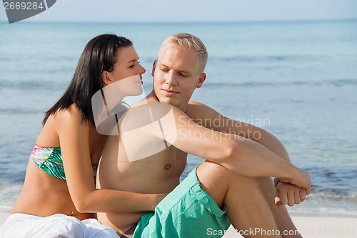
<svg viewBox="0 0 357 238"><path fill-rule="evenodd" d="M0 23L0 212L10 212L44 111L64 92L99 34L126 36L146 68L161 42L189 32L208 49L193 100L254 124L311 175L294 215L357 217L357 19L200 23ZM182 178L203 159L189 156ZM242 191L244 192L244 191Z"/></svg>

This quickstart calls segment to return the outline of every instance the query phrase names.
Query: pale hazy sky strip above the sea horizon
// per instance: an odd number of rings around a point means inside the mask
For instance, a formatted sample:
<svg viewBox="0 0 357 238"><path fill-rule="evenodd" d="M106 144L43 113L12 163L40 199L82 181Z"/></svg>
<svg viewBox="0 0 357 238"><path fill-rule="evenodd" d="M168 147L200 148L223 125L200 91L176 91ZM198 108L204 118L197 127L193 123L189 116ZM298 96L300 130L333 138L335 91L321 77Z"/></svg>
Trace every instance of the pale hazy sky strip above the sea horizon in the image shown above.
<svg viewBox="0 0 357 238"><path fill-rule="evenodd" d="M357 19L357 0L58 0L46 11L23 21L199 22L351 18ZM4 6L0 9L0 21L7 21Z"/></svg>

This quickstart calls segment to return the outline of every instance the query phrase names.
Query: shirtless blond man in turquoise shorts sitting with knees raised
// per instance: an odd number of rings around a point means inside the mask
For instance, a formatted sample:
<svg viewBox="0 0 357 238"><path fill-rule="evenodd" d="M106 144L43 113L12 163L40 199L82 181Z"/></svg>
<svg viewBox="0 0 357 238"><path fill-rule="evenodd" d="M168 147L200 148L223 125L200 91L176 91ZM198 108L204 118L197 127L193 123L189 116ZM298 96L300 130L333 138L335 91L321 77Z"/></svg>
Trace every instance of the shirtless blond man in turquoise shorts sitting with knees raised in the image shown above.
<svg viewBox="0 0 357 238"><path fill-rule="evenodd" d="M291 165L286 149L268 132L190 101L206 79L206 60L196 36L166 39L153 66L154 90L123 116L120 136L106 142L99 188L169 192L155 212L98 214L121 235L135 229L134 237L221 237L229 224L245 237L296 231L286 209L274 204L270 176L277 177L276 202L293 205L309 193L308 174ZM256 133L258 139L251 137ZM187 153L207 160L179 184ZM247 232L256 228L268 232ZM293 233L289 237L300 237Z"/></svg>

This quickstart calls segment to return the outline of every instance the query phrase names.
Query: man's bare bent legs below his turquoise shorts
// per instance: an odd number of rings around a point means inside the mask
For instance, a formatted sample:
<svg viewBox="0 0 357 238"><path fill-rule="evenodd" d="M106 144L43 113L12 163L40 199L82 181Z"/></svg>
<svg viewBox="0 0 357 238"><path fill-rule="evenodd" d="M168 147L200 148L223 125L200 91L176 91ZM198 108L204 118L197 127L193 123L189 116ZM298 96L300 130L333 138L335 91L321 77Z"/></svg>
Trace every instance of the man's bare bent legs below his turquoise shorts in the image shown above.
<svg viewBox="0 0 357 238"><path fill-rule="evenodd" d="M301 237L291 233L284 236L284 230L296 233L296 227L285 207L278 208L274 203L275 189L270 178L240 176L207 161L198 167L197 177L218 206L226 207L234 228L247 233L260 229L256 237Z"/></svg>

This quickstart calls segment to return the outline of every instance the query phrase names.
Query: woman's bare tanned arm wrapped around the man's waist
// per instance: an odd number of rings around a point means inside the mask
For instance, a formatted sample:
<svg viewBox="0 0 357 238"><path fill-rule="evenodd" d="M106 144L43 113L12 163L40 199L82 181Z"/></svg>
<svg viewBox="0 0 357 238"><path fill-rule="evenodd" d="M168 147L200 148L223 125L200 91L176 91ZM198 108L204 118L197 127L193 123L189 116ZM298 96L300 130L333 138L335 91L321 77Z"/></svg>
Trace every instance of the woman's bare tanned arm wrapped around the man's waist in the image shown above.
<svg viewBox="0 0 357 238"><path fill-rule="evenodd" d="M164 194L137 194L96 189L89 152L89 124L72 106L56 114L66 182L79 212L142 212L154 210Z"/></svg>

